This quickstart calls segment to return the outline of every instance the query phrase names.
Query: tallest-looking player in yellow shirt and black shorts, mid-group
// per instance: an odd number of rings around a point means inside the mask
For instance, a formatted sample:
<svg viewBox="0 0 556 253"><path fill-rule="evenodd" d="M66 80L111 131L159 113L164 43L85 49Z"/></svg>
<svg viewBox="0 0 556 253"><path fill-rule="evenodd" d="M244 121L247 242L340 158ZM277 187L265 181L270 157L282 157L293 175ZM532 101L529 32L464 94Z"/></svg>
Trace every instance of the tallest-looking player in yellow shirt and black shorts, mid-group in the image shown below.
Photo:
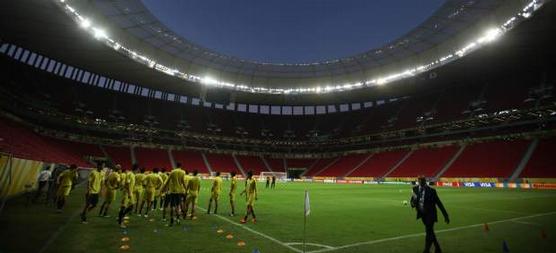
<svg viewBox="0 0 556 253"><path fill-rule="evenodd" d="M185 190L187 185L185 184L185 171L181 169L181 164L176 163L176 168L170 172L168 176L168 180L164 185L164 190L167 191L166 198L170 200L170 224L168 226L174 225L174 212L176 213L177 223L179 224L179 208L184 210L183 206L183 199L185 198ZM163 218L166 218L166 209L162 213ZM185 219L185 213L184 213Z"/></svg>

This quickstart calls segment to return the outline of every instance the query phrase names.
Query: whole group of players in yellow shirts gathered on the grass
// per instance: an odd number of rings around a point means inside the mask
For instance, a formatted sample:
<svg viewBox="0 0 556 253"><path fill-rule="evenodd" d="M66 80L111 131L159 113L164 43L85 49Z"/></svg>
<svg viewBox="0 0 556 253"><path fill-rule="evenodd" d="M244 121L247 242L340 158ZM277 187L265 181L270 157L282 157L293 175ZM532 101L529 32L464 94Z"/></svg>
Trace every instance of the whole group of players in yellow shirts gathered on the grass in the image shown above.
<svg viewBox="0 0 556 253"><path fill-rule="evenodd" d="M123 220L127 215L135 213L147 218L150 211L157 209L157 205L159 205L159 210L162 211L163 221L167 221L166 211L170 209L170 222L167 226L173 226L175 222L179 224L180 216L184 220L187 218L197 219L195 205L199 197L201 178L196 170L188 173L181 168L180 163L177 163L176 168L170 172L163 172L156 168L152 171L145 171L145 169L139 169L137 165L133 165L131 169L125 171L122 170L120 165L114 166L113 169L103 168L104 164L99 163L97 168L89 173L85 193L86 204L81 212L82 223L87 223L87 214L97 206L102 194L104 202L100 207L99 216L110 217L108 211L111 204L116 200L118 192L121 194L118 213L118 224L121 227L126 226ZM58 176L56 202L59 211L63 209L77 176L77 166L75 165L71 165L68 170ZM230 216L235 215L236 190L236 174L231 172L228 193ZM214 214L217 213L221 191L222 178L220 173L216 172L212 179L207 214L210 214L211 210ZM245 195L247 201L247 212L240 222L246 223L249 216L252 216L253 223L256 223L253 207L257 200L257 183L252 172L247 173L245 190L240 195ZM143 213L144 207L146 208Z"/></svg>

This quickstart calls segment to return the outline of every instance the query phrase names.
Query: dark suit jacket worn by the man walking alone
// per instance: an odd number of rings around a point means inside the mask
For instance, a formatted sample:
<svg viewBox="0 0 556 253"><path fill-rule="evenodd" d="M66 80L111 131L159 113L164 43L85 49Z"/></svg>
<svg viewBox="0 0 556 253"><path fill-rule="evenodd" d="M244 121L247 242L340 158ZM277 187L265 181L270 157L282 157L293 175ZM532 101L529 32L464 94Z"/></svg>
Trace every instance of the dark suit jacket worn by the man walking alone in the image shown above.
<svg viewBox="0 0 556 253"><path fill-rule="evenodd" d="M423 203L423 210L419 208L419 186L413 187L414 195L411 197L411 207L414 207L417 210L417 219L423 219L424 221L438 221L438 215L436 212L436 206L440 208L442 215L444 215L445 219L448 218L448 212L444 208L442 201L438 198L438 194L436 194L436 190L429 186L425 186L425 201Z"/></svg>

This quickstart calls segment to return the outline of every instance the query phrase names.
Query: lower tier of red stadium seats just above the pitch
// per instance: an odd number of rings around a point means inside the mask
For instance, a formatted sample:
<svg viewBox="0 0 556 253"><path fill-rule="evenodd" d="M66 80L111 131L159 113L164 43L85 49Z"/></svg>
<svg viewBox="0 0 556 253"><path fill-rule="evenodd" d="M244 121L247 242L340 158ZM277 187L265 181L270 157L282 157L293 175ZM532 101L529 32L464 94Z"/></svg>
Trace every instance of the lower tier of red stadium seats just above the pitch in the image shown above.
<svg viewBox="0 0 556 253"><path fill-rule="evenodd" d="M171 159L184 168L207 173L213 171L284 172L285 168L305 168L305 176L322 177L415 177L437 176L449 162L443 177L509 178L523 159L531 141L500 140L468 144L420 148L414 151L394 150L376 154L352 154L326 159L272 159L259 156L203 154L196 151L134 148L135 159L145 168L171 168ZM104 151L102 150L104 148ZM458 151L463 149L462 152ZM129 147L100 147L44 137L15 122L0 119L0 150L17 157L57 163L74 163L91 167L86 156L108 155L115 163L131 167ZM520 177L556 178L556 138L543 139L535 148ZM411 153L409 153L411 152ZM206 162L205 162L206 159ZM238 166L239 165L239 166ZM397 166L397 167L396 167ZM393 170L393 171L391 171Z"/></svg>

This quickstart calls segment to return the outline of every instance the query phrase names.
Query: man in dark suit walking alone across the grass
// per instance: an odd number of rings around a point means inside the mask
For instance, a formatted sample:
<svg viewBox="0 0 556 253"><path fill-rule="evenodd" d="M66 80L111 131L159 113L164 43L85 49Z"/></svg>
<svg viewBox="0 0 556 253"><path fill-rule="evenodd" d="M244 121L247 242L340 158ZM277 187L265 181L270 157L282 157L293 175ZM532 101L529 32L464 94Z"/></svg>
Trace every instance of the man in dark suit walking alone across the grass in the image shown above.
<svg viewBox="0 0 556 253"><path fill-rule="evenodd" d="M425 177L419 177L419 184L413 187L411 207L417 210L417 219L421 219L425 225L426 239L425 250L423 252L426 253L430 252L430 248L433 244L436 253L442 252L440 244L438 244L436 235L434 234L434 223L438 221L436 206L440 208L446 224L450 224L448 212L446 212L444 205L442 205L442 201L438 198L436 190L427 185Z"/></svg>

